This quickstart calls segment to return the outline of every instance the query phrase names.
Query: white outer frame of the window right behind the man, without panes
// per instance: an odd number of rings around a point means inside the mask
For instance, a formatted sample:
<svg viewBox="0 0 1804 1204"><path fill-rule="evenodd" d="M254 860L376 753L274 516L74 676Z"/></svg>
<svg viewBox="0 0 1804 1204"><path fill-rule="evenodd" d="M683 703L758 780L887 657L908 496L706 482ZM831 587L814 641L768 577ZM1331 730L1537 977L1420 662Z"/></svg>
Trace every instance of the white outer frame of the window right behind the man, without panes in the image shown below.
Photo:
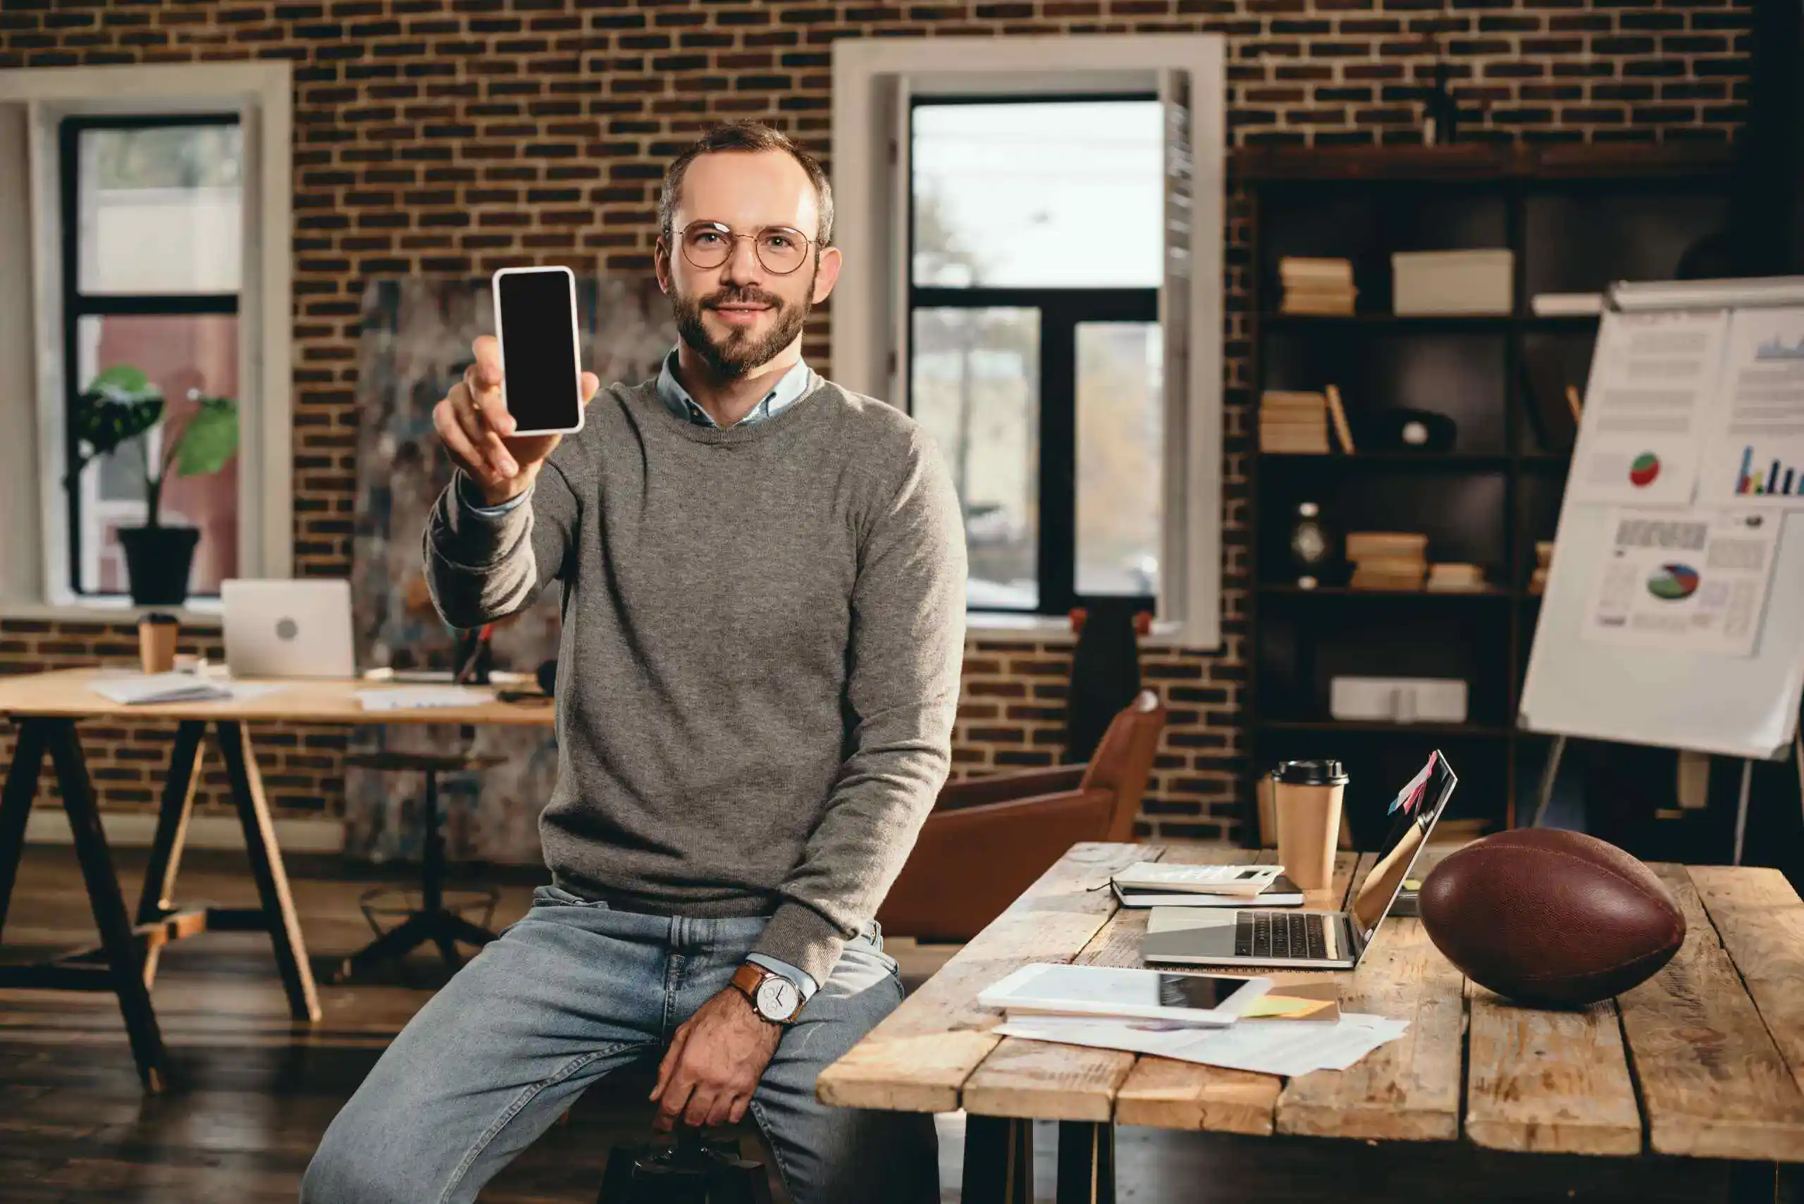
<svg viewBox="0 0 1804 1204"><path fill-rule="evenodd" d="M1187 310L1167 362L1185 362L1165 418L1165 530L1155 633L1221 647L1221 323L1227 68L1221 34L841 40L833 43L833 377L907 407L907 110L924 96L1183 92L1191 117ZM1167 278L1171 279L1171 278ZM1160 294L1162 315L1173 306ZM1176 348L1176 360L1173 359ZM974 629L1066 629L1063 618L971 615Z"/></svg>

